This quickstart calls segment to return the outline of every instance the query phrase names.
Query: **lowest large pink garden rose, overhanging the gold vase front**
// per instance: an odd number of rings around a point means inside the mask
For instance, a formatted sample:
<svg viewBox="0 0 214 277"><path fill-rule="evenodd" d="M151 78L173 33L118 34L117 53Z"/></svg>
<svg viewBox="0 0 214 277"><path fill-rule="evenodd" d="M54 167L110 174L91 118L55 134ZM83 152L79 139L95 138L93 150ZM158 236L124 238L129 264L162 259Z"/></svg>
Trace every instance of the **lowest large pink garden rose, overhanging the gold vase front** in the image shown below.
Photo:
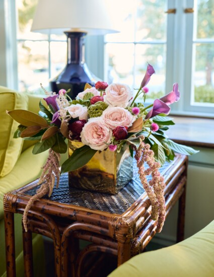
<svg viewBox="0 0 214 277"><path fill-rule="evenodd" d="M101 117L93 117L83 127L80 137L83 144L102 151L111 142L112 130L106 126Z"/></svg>

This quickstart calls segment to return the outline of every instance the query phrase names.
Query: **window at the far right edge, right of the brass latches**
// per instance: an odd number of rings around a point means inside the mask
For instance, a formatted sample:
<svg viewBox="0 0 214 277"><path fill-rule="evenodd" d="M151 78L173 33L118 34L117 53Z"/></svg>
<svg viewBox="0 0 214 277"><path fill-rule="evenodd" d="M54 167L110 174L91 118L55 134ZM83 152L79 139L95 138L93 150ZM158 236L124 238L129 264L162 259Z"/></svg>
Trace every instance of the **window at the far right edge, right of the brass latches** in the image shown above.
<svg viewBox="0 0 214 277"><path fill-rule="evenodd" d="M214 111L214 0L189 1L186 43L186 110ZM188 80L190 80L188 82Z"/></svg>

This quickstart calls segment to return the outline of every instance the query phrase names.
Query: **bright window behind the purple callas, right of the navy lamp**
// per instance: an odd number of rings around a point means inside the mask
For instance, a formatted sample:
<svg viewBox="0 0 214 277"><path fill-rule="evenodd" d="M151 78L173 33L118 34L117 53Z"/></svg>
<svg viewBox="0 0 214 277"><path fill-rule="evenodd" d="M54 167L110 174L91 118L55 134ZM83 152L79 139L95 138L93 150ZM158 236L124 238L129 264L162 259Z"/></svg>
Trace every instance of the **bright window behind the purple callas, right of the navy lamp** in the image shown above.
<svg viewBox="0 0 214 277"><path fill-rule="evenodd" d="M156 77L150 82L150 97L165 93L167 8L166 0L118 0L114 10L120 10L121 33L107 35L105 40L105 80L122 82L138 88L151 63ZM152 15L152 18L151 18ZM118 17L118 15L115 15Z"/></svg>

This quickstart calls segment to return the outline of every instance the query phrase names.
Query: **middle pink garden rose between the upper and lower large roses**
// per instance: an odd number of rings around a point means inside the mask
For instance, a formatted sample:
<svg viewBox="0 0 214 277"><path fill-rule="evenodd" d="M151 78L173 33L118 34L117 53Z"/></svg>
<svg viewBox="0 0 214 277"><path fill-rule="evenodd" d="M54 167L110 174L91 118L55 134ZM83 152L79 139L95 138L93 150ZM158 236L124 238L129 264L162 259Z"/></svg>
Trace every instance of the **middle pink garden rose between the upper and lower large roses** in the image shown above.
<svg viewBox="0 0 214 277"><path fill-rule="evenodd" d="M130 127L136 119L128 110L121 107L108 107L103 111L102 118L111 129L117 126Z"/></svg>

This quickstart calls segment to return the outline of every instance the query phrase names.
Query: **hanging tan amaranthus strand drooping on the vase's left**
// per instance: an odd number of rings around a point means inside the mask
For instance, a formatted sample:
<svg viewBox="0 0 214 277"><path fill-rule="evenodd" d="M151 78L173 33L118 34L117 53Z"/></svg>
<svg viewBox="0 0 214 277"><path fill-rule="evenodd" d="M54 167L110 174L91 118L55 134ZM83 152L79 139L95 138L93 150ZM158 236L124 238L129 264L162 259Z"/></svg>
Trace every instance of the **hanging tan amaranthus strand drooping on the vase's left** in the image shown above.
<svg viewBox="0 0 214 277"><path fill-rule="evenodd" d="M45 194L48 194L48 196L50 197L53 191L55 180L56 180L56 187L58 187L59 175L60 175L59 160L60 160L60 154L50 149L47 161L45 165L42 167L43 171L38 182L38 185L41 185L41 186L36 191L36 194L30 198L30 200L28 201L25 207L25 211L23 215L23 225L26 232L28 231L27 215L34 201L42 198Z"/></svg>

